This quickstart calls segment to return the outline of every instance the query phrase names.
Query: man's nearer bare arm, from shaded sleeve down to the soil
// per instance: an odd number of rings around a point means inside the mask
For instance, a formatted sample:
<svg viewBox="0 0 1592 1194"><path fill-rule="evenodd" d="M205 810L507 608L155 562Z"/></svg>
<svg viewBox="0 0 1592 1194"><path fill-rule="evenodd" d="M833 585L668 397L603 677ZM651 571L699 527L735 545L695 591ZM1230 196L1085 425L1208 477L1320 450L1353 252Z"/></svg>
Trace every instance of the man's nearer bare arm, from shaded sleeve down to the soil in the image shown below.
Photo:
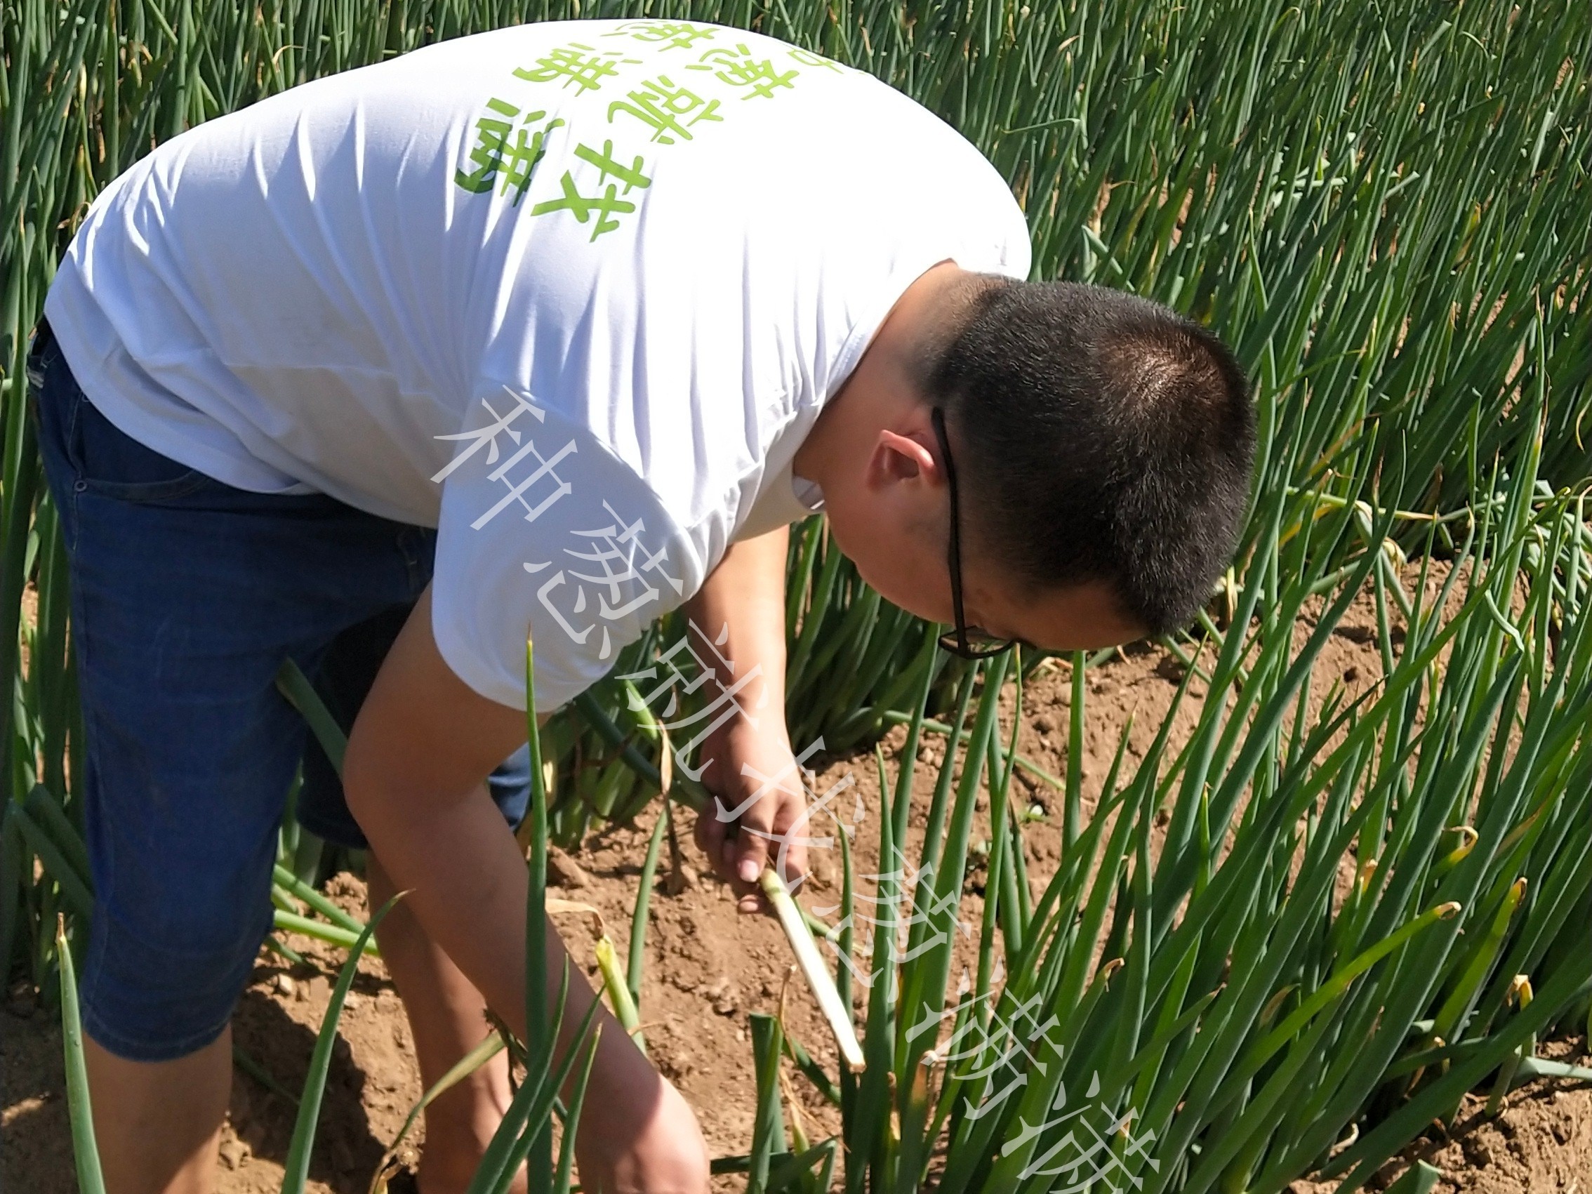
<svg viewBox="0 0 1592 1194"><path fill-rule="evenodd" d="M525 1033L525 860L486 791L486 775L525 742L525 715L468 688L431 637L430 589L387 653L349 736L349 809L436 944L509 1027ZM567 954L548 933L548 1001ZM570 965L559 1052L595 1000ZM680 1094L607 1009L581 1121L587 1189L707 1189L700 1129Z"/></svg>

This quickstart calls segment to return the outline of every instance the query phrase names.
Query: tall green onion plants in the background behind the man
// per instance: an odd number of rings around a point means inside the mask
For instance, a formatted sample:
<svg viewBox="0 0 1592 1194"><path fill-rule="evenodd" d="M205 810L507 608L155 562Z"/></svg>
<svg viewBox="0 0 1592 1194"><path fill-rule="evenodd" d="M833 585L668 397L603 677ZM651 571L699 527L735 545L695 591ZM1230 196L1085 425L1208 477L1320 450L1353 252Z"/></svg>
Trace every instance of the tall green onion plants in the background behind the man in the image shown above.
<svg viewBox="0 0 1592 1194"><path fill-rule="evenodd" d="M76 218L156 142L295 83L514 21L637 14L790 38L963 129L1024 202L1040 275L1151 295L1237 344L1264 400L1262 489L1307 489L1326 509L1399 458L1383 494L1401 511L1393 530L1412 548L1434 521L1452 549L1455 521L1495 500L1477 468L1500 452L1539 435L1549 486L1587 471L1592 30L1573 0L1134 0L1110 13L1078 0L0 0L0 675L21 686L0 702L8 971L53 982L67 899L32 880L37 834L11 810L43 783L80 818L65 570L22 401L27 331ZM1552 400L1533 427L1519 393L1538 360ZM1251 519L1248 549L1258 535ZM817 521L793 538L790 594L788 704L804 742L864 740L907 704L914 669L938 665L923 629L858 581ZM958 678L939 677L941 708ZM619 723L626 697L592 694ZM560 841L650 796L578 713L560 716L549 755ZM302 879L330 861L291 820L283 847Z"/></svg>

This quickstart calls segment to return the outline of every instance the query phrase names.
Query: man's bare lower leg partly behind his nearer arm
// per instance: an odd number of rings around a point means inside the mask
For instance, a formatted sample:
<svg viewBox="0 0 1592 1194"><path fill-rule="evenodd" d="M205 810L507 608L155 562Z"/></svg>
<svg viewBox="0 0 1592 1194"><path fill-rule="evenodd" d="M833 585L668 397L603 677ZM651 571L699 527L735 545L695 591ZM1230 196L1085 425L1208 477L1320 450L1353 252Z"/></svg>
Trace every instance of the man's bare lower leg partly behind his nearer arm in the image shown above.
<svg viewBox="0 0 1592 1194"><path fill-rule="evenodd" d="M374 853L366 856L366 884L374 912L395 890ZM403 901L376 936L409 1014L420 1086L430 1089L487 1035L486 1003ZM500 1052L425 1110L420 1194L460 1194L470 1184L511 1097L508 1054ZM514 1189L525 1189L524 1176Z"/></svg>

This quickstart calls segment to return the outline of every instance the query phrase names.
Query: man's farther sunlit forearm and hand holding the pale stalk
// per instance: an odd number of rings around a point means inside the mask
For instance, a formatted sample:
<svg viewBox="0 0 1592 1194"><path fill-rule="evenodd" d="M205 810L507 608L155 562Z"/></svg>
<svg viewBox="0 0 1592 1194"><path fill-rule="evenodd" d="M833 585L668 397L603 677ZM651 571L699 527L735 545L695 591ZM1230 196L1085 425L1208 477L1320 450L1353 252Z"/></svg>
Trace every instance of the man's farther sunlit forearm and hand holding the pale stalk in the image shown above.
<svg viewBox="0 0 1592 1194"><path fill-rule="evenodd" d="M691 621L734 662L726 686L751 677L737 693L748 716L732 718L702 743L700 758L710 761L702 778L718 809L708 806L697 818L697 844L736 888L742 911L758 907L756 879L766 863L780 863L786 879L807 869L806 798L785 728L788 541L790 529L782 527L732 543L686 603Z"/></svg>

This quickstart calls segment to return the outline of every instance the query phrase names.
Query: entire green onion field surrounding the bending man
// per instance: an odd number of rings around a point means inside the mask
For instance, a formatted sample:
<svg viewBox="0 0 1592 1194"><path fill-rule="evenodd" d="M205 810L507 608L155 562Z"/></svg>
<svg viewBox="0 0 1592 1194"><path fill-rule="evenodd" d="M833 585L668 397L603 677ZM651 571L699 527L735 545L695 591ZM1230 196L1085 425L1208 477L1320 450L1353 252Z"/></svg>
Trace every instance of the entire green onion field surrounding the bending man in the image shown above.
<svg viewBox="0 0 1592 1194"><path fill-rule="evenodd" d="M955 659L863 584L821 517L793 529L791 742L856 751L884 794L876 874L844 850L839 907L804 922L856 1008L863 1065L825 1068L755 1017L756 1129L716 1170L748 1194L1353 1191L1468 1095L1495 1110L1543 1078L1592 1081L1538 1051L1592 1030L1584 0L0 0L0 970L67 1024L81 1189L100 1188L72 981L92 906L81 723L24 376L56 261L102 186L196 123L441 38L575 16L756 29L887 80L1009 180L1035 277L1208 323L1258 406L1239 556L1199 619L1151 645L1176 665L1173 710L1146 751L1124 732L1092 807L1086 677L1105 654ZM1364 594L1380 677L1350 694L1317 661ZM683 630L664 619L532 734L533 923L551 845L630 821L664 786L700 806L624 678ZM1065 842L1044 874L1016 783L1038 669L1073 685L1068 766L1040 777ZM280 686L339 761L309 683L287 669ZM898 726L904 747L874 756ZM648 1020L657 825L629 958L603 960L629 1025ZM290 814L280 931L363 949L368 927L317 890L358 861ZM874 968L866 990L837 955ZM288 1191L350 979L352 962ZM997 1028L1019 1019L1036 1032L1013 1048ZM525 1156L533 1191L578 1180L559 1141L583 1054L562 1070L535 1041L530 1055L478 1191L506 1189ZM841 1129L809 1137L786 1079L817 1086ZM1434 1176L1411 1167L1398 1192Z"/></svg>

